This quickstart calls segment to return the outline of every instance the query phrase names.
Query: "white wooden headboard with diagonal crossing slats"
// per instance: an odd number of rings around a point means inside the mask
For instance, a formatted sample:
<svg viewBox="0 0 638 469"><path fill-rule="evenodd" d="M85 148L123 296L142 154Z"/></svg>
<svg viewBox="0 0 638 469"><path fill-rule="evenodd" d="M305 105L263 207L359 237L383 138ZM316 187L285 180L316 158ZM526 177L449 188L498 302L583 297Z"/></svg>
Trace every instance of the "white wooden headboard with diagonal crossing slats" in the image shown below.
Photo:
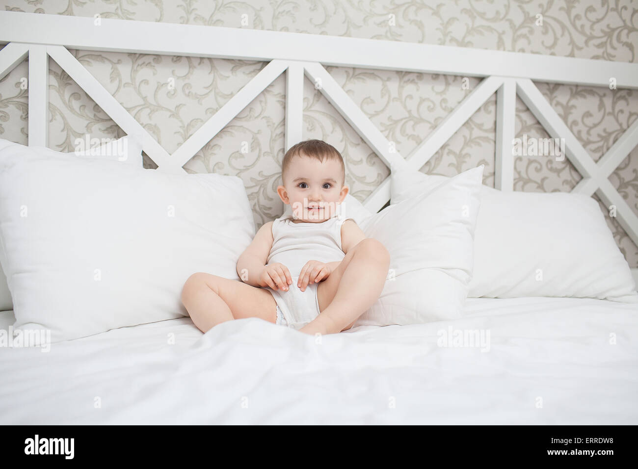
<svg viewBox="0 0 638 469"><path fill-rule="evenodd" d="M302 91L306 75L390 171L403 165L419 170L496 92L494 186L511 191L514 184L512 140L515 137L518 95L551 138L564 138L565 156L582 175L574 191L586 195L597 193L605 205L614 205L619 224L638 244L638 216L608 179L638 145L638 119L595 162L532 81L638 89L638 64L341 36L17 11L0 11L0 43L8 43L0 50L0 78L29 55L29 145L47 146L48 57L52 57L122 130L142 138L144 152L159 170L170 172L184 171L184 163L285 72L286 149L302 140ZM67 48L248 59L269 64L173 154L168 154ZM383 136L325 70L325 65L441 73L482 77L483 80L411 154L401 155L396 151L394 142ZM376 212L388 202L389 182L386 179L369 195L364 202L368 209Z"/></svg>

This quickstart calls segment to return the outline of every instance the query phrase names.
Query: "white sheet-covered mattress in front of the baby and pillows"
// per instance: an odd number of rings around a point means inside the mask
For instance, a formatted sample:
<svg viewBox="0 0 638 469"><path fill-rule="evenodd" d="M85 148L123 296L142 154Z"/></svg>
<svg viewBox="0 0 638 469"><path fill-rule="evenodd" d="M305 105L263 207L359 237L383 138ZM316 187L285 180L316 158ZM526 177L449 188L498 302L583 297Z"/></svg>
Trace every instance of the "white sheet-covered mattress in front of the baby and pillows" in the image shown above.
<svg viewBox="0 0 638 469"><path fill-rule="evenodd" d="M12 323L0 313L0 328ZM489 352L438 346L450 325L489 330ZM462 320L320 344L256 318L207 334L181 318L48 353L3 347L0 376L0 424L635 425L638 306L468 299Z"/></svg>

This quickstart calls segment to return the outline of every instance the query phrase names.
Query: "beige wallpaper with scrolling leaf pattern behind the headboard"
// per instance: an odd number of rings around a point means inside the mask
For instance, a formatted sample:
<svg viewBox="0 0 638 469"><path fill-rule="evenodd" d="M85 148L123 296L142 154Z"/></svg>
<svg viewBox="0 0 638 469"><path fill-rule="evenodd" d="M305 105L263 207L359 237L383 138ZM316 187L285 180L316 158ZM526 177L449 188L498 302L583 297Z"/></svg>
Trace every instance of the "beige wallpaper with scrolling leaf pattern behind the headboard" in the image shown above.
<svg viewBox="0 0 638 469"><path fill-rule="evenodd" d="M59 15L248 27L297 33L454 45L637 62L638 4L634 1L480 0L1 0L0 8ZM542 15L542 26L537 26ZM243 20L243 21L242 21ZM169 57L71 50L115 98L172 153L205 119L260 71L254 61ZM410 154L479 82L463 77L327 67L397 150ZM27 61L0 80L0 138L27 143ZM594 160L598 160L638 117L638 91L536 83ZM73 140L120 137L124 132L71 78L50 61L50 140L72 151ZM454 175L486 165L484 183L494 184L496 95L450 138L421 170ZM238 175L248 191L260 227L281 214L275 188L284 154L285 75L213 137L184 168L188 172ZM517 98L517 137L547 138ZM321 138L346 160L346 183L364 200L389 170L306 78L304 140ZM249 142L250 152L241 152ZM145 167L154 168L145 156ZM581 175L566 159L516 158L515 190L570 191ZM638 213L638 149L610 181ZM594 196L594 198L597 198ZM598 200L598 198L597 198ZM600 202L600 201L599 201ZM638 247L601 203L614 239L632 267Z"/></svg>

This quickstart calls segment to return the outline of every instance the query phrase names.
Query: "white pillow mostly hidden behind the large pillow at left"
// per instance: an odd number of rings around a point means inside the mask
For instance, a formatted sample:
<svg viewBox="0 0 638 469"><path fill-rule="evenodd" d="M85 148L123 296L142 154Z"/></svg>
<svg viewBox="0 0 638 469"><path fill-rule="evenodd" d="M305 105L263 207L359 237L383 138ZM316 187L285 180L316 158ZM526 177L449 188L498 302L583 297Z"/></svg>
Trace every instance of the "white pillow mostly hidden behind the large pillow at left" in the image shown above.
<svg viewBox="0 0 638 469"><path fill-rule="evenodd" d="M93 149L89 148L85 151L80 151L80 149L83 148L82 144L85 145L85 142L85 140L78 142L78 151L74 151L73 154L76 154L77 156L89 156L91 158L101 158L105 160L118 160L130 165L137 166L139 168L142 168L143 166L142 140L140 138L133 137L133 135L124 135L124 137L109 143L105 143L100 147ZM16 144L15 142L11 142L10 140L4 140L3 138L0 138L0 151L10 145L20 144ZM51 149L48 149L47 147L33 146L30 148L34 151L43 152L44 154L53 151ZM0 246L1 244L2 239L0 239ZM11 292L9 291L9 286L6 283L6 276L4 276L4 271L2 269L2 261L3 255L2 249L0 249L0 311L8 311L10 309L13 309L13 302L11 301Z"/></svg>

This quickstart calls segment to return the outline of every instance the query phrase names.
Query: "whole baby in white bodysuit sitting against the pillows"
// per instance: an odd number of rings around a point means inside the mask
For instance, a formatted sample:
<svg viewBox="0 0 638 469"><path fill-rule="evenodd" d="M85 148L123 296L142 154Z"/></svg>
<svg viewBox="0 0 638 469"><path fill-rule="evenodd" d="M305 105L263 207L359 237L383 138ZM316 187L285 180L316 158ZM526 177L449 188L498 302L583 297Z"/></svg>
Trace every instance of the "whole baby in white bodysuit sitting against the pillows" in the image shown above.
<svg viewBox="0 0 638 469"><path fill-rule="evenodd" d="M237 261L242 281L191 275L182 303L206 332L258 317L307 334L350 329L378 299L390 255L339 208L348 194L341 154L322 140L293 145L277 193L292 214L265 223Z"/></svg>

